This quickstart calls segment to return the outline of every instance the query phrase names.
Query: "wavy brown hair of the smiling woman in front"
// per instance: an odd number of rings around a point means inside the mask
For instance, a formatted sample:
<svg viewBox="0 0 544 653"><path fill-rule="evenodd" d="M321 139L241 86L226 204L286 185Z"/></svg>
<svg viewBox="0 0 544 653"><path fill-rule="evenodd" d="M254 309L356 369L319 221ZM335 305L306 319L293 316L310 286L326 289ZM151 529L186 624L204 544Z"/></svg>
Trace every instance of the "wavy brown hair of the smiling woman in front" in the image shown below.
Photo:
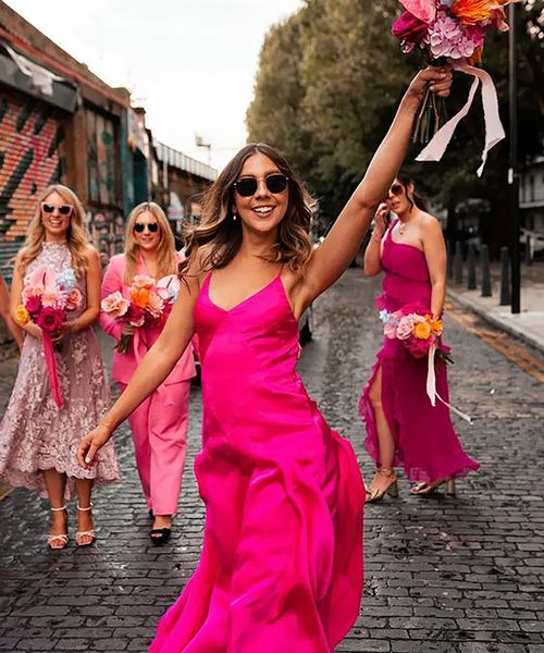
<svg viewBox="0 0 544 653"><path fill-rule="evenodd" d="M270 145L251 143L226 164L206 193L200 224L185 229L187 259L181 266L181 274L185 274L194 264L200 272L224 268L238 252L242 225L240 220L233 219L233 184L239 177L245 162L257 153L268 157L289 180L287 211L280 223L277 242L270 255L263 257L264 260L283 262L297 270L310 258L310 220L316 201L296 178L283 155Z"/></svg>

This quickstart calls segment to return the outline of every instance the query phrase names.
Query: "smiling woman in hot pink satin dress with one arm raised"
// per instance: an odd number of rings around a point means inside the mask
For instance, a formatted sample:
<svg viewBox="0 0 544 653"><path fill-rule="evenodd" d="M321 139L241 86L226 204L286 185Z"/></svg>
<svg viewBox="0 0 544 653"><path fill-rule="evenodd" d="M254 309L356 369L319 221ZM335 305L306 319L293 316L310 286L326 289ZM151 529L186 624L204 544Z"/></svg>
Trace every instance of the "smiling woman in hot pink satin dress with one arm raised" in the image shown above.
<svg viewBox="0 0 544 653"><path fill-rule="evenodd" d="M89 467L196 331L202 553L161 619L152 653L327 653L359 614L363 484L351 446L326 424L295 370L297 319L355 257L429 81L447 95L452 75L430 69L415 78L318 249L308 236L310 198L285 159L263 144L234 157L189 235L183 289L163 333L82 441L79 461Z"/></svg>

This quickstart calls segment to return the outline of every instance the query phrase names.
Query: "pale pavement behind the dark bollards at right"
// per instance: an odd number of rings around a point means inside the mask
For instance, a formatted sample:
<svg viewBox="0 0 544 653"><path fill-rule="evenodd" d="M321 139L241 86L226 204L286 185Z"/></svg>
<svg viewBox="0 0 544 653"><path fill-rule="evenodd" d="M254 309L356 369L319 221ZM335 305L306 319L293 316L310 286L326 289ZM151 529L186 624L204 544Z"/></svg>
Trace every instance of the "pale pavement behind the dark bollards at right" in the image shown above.
<svg viewBox="0 0 544 653"><path fill-rule="evenodd" d="M466 274L465 269L465 280ZM478 271L478 289L468 291L467 283L461 285L450 281L448 296L494 326L544 352L544 261L535 261L532 266L521 264L521 312L519 313L514 315L510 306L499 306L498 263L492 263L491 281L491 297L482 297L480 271Z"/></svg>

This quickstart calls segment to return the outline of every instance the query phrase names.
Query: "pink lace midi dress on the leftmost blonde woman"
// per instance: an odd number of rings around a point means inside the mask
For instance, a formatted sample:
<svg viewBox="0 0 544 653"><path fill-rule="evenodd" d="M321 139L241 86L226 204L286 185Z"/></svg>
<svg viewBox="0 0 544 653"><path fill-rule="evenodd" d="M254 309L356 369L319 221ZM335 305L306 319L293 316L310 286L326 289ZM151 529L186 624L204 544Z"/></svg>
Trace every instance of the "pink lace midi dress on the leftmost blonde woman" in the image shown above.
<svg viewBox="0 0 544 653"><path fill-rule="evenodd" d="M44 243L38 257L28 266L55 271L71 267L70 250L62 243ZM77 280L82 306L70 319L86 309L85 276ZM104 416L110 406L110 389L100 348L92 329L63 338L55 352L63 407L51 394L41 342L27 335L18 373L0 423L0 477L13 486L28 488L47 497L41 470L57 469L67 476L65 497L74 495L75 478L92 478L96 484L119 481L113 441L98 454L91 470L79 467L76 458L81 439Z"/></svg>

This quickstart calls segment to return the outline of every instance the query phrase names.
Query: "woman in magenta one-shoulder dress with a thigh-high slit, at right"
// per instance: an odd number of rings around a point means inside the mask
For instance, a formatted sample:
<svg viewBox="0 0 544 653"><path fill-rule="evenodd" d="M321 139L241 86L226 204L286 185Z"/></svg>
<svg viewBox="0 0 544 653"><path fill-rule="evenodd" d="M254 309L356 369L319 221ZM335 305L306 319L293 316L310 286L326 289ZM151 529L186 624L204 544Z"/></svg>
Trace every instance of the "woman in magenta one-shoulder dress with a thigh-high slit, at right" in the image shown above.
<svg viewBox="0 0 544 653"><path fill-rule="evenodd" d="M446 248L438 221L417 202L413 182L397 175L387 202L376 212L364 272L385 272L379 310L394 312L412 305L438 319L446 293ZM397 218L385 229L390 209ZM367 501L396 494L397 466L416 483L412 494L429 494L444 483L455 493L454 479L480 466L462 451L448 407L442 402L431 405L426 357L415 358L400 341L388 337L376 356L359 406L367 427L364 446L378 465ZM436 364L436 390L448 402L444 362Z"/></svg>

